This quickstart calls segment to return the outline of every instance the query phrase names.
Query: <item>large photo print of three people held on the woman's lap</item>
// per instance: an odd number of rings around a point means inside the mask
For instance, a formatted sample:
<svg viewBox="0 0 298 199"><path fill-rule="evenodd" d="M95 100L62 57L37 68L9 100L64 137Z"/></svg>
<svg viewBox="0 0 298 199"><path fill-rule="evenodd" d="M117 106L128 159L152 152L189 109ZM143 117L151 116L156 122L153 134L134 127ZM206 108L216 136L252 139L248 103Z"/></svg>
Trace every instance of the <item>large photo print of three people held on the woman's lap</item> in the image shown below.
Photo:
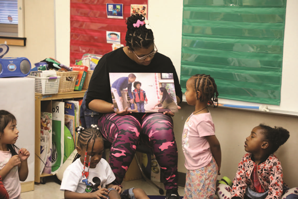
<svg viewBox="0 0 298 199"><path fill-rule="evenodd" d="M178 112L172 73L109 73L116 111Z"/></svg>

